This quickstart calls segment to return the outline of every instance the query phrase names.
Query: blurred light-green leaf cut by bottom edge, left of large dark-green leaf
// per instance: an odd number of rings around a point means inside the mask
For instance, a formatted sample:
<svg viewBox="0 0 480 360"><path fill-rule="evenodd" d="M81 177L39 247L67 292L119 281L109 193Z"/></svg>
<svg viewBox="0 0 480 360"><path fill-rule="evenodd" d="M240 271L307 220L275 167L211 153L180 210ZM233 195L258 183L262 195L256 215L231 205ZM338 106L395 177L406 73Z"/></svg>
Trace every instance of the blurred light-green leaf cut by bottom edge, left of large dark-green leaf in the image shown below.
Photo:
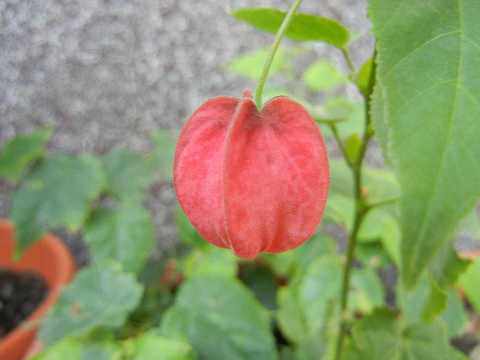
<svg viewBox="0 0 480 360"><path fill-rule="evenodd" d="M143 333L136 337L133 342L132 360L197 359L191 345L183 341L167 339L152 333Z"/></svg>

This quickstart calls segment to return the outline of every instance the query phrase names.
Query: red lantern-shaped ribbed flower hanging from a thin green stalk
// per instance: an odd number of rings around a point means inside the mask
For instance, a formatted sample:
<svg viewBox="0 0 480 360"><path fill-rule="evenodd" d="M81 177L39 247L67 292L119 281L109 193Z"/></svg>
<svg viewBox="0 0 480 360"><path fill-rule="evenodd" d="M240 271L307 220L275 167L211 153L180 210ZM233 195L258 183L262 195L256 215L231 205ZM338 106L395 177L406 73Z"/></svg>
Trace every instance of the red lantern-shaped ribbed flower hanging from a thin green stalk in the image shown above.
<svg viewBox="0 0 480 360"><path fill-rule="evenodd" d="M324 140L307 110L285 96L259 110L250 91L200 106L173 162L178 201L193 226L245 259L307 241L329 181Z"/></svg>

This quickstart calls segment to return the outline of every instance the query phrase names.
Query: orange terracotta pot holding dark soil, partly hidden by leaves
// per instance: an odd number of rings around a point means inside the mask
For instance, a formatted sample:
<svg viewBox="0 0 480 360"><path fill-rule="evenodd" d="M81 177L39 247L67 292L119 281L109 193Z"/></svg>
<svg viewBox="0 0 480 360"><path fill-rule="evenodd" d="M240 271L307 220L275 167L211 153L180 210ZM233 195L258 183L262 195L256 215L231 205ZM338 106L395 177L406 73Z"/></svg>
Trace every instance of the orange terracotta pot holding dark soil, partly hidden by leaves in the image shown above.
<svg viewBox="0 0 480 360"><path fill-rule="evenodd" d="M0 267L12 270L32 269L47 281L49 293L25 322L0 340L1 360L20 360L35 338L38 320L56 302L62 285L75 272L75 261L64 243L53 234L45 235L27 249L21 261L14 262L14 226L0 219Z"/></svg>

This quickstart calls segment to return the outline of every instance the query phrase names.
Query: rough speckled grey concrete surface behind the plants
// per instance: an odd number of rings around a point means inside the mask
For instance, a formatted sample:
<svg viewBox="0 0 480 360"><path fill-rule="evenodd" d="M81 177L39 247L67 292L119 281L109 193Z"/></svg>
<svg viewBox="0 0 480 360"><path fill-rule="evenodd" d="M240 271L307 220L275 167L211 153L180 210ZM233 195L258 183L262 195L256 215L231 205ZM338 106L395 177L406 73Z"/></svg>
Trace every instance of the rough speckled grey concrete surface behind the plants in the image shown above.
<svg viewBox="0 0 480 360"><path fill-rule="evenodd" d="M149 131L164 128L178 135L207 99L254 90L254 81L222 66L269 46L274 36L232 19L228 11L288 10L291 3L2 0L0 146L14 134L49 124L55 129L51 151L101 154L113 145L147 151ZM304 0L298 12L328 16L365 34L352 44L352 58L359 67L370 57L373 40L364 0ZM322 57L346 68L340 51L315 45L313 58ZM8 215L9 190L0 182L2 217ZM176 239L176 204L167 182L157 184L147 199L160 244Z"/></svg>

